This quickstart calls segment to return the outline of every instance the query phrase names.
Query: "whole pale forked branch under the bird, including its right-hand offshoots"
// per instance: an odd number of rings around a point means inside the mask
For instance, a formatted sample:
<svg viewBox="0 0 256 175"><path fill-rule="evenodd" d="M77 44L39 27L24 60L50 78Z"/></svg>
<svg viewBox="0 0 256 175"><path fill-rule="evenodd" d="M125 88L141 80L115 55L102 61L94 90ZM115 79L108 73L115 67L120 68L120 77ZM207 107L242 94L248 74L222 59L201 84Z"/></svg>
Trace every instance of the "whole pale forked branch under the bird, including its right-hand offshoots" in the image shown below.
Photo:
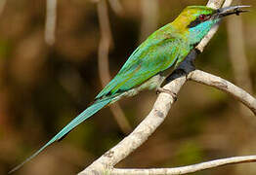
<svg viewBox="0 0 256 175"><path fill-rule="evenodd" d="M228 5L231 0L226 3ZM209 0L208 6L212 8L220 8L224 0ZM210 41L211 37L217 31L218 25L216 25L209 34L198 45L197 50L203 51L204 47ZM244 90L235 87L233 84L225 81L216 76L204 73L202 71L192 71L191 62L196 57L197 53L192 51L186 60L183 61L178 69L184 69L185 71L176 71L172 74L172 81L163 88L169 89L175 93L178 93L183 85L187 82L187 78L190 80L209 85L215 88L223 89L228 93L231 93L240 100L243 104L248 106L255 113L256 101ZM191 73L190 73L191 72ZM208 77L208 78L207 78ZM234 91L233 91L234 90ZM240 162L252 162L256 161L256 156L250 157L230 157L224 159L217 159L190 166L177 167L177 168L159 168L159 169L118 169L113 166L123 158L130 155L139 146L141 146L154 130L165 120L174 99L168 93L160 93L156 99L152 110L146 119L140 123L135 130L119 142L115 147L111 148L105 155L96 159L91 165L79 173L79 175L86 174L185 174L195 172L207 168L222 166L231 163Z"/></svg>

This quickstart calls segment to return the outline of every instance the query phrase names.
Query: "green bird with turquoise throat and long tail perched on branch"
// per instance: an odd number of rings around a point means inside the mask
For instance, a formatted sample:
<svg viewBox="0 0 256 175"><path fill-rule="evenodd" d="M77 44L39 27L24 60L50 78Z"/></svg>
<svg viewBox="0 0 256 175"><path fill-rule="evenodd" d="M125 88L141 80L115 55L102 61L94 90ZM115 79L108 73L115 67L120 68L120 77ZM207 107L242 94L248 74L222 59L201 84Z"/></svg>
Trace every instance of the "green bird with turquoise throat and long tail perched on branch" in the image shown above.
<svg viewBox="0 0 256 175"><path fill-rule="evenodd" d="M67 123L50 141L9 173L21 168L24 163L36 157L54 142L61 141L79 123L83 123L124 96L136 95L144 89L157 89L175 97L175 93L160 88L161 84L221 18L247 12L242 9L247 7L250 6L231 6L217 10L206 6L185 8L172 22L149 35L149 38L128 57L115 77L95 97L91 106Z"/></svg>

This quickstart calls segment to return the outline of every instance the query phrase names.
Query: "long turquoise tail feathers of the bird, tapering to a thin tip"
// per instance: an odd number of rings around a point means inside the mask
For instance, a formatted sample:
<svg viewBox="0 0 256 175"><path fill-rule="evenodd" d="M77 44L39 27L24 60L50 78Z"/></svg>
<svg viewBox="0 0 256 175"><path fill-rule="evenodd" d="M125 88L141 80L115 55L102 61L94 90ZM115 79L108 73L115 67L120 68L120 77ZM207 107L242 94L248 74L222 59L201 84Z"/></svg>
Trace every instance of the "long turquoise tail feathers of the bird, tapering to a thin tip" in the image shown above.
<svg viewBox="0 0 256 175"><path fill-rule="evenodd" d="M79 116L77 116L75 119L73 119L70 123L64 126L64 128L56 135L54 136L49 142L47 142L42 148L40 148L37 152L35 152L32 156L27 157L24 161L21 162L18 166L13 168L9 174L13 173L14 171L21 168L21 166L32 159L33 157L36 157L38 154L40 154L46 147L54 143L55 141L60 141L64 138L66 134L68 134L75 126L77 126L79 123L84 122L91 116L93 116L95 113L97 113L99 110L103 109L107 104L111 102L111 99L102 99L99 101L96 101L94 104L92 104L90 107L88 107L84 112L82 112Z"/></svg>

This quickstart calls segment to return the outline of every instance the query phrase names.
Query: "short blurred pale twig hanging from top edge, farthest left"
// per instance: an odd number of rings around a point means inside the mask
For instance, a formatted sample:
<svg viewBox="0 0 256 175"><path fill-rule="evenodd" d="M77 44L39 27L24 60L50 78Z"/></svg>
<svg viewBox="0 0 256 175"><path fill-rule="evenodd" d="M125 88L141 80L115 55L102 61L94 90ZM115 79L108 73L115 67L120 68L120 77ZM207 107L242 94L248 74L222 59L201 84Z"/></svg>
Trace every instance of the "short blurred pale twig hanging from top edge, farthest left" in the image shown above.
<svg viewBox="0 0 256 175"><path fill-rule="evenodd" d="M57 17L57 0L46 1L46 21L45 21L45 42L48 45L55 43Z"/></svg>

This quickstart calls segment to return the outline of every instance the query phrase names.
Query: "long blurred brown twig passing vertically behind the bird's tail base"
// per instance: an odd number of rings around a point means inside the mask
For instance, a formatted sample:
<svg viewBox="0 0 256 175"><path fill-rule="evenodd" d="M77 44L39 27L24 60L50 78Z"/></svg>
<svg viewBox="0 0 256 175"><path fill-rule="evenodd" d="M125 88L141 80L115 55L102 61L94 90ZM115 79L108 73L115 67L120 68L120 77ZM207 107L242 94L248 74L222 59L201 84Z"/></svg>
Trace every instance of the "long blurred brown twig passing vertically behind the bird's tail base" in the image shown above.
<svg viewBox="0 0 256 175"><path fill-rule="evenodd" d="M103 87L105 87L110 81L108 52L112 41L106 0L98 1L97 11L101 29L101 41L98 50L98 65L100 79ZM114 116L115 121L120 126L122 131L124 133L129 133L131 131L131 126L126 120L120 105L118 103L115 103L110 106L110 110Z"/></svg>

